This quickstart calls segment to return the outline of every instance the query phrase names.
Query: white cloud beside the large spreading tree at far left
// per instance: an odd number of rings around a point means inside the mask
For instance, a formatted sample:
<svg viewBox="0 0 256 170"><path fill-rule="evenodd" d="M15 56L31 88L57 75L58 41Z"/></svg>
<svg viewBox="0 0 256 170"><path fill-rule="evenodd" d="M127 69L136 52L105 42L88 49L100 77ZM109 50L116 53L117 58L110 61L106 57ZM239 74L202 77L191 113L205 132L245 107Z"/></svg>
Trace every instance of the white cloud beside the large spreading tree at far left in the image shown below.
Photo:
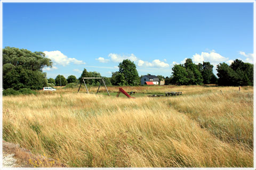
<svg viewBox="0 0 256 170"><path fill-rule="evenodd" d="M69 65L70 63L74 64L85 64L81 60L76 60L76 58L69 58L66 55L62 54L59 50L56 51L51 51L51 52L44 52L45 56L47 58L50 58L53 63L66 66Z"/></svg>

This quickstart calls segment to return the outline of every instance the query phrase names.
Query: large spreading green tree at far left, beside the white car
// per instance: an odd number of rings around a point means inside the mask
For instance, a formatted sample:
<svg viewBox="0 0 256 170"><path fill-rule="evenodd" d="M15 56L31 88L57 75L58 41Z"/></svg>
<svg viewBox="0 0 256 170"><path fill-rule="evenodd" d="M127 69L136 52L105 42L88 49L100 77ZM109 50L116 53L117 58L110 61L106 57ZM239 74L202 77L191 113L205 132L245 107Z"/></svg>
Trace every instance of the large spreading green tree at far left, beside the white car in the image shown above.
<svg viewBox="0 0 256 170"><path fill-rule="evenodd" d="M3 87L42 89L47 86L43 67L52 66L49 58L42 52L30 52L27 49L5 47L3 49Z"/></svg>

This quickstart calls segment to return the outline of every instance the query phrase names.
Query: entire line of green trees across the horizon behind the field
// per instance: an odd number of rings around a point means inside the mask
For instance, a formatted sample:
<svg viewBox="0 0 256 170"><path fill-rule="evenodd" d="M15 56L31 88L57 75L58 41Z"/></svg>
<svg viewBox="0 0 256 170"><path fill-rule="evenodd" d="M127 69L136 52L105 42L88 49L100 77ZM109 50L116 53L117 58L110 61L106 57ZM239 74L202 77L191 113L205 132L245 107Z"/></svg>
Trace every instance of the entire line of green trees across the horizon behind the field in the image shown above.
<svg viewBox="0 0 256 170"><path fill-rule="evenodd" d="M46 79L44 67L52 67L52 62L42 52L30 52L27 49L5 47L3 49L3 87L20 90L23 88L38 90L46 86L66 86L68 83L81 83L83 77L102 77L98 72L83 70L78 79L70 75L67 79L58 75L55 79ZM118 65L119 71L113 72L111 78L104 77L107 85L138 86L140 79L136 65L130 60L123 60ZM165 84L218 84L219 86L253 86L253 64L244 63L236 59L231 65L220 63L217 65L217 76L213 73L210 62L193 63L188 58L184 64L175 64L170 77L157 75ZM98 79L86 79L86 84L98 86Z"/></svg>

